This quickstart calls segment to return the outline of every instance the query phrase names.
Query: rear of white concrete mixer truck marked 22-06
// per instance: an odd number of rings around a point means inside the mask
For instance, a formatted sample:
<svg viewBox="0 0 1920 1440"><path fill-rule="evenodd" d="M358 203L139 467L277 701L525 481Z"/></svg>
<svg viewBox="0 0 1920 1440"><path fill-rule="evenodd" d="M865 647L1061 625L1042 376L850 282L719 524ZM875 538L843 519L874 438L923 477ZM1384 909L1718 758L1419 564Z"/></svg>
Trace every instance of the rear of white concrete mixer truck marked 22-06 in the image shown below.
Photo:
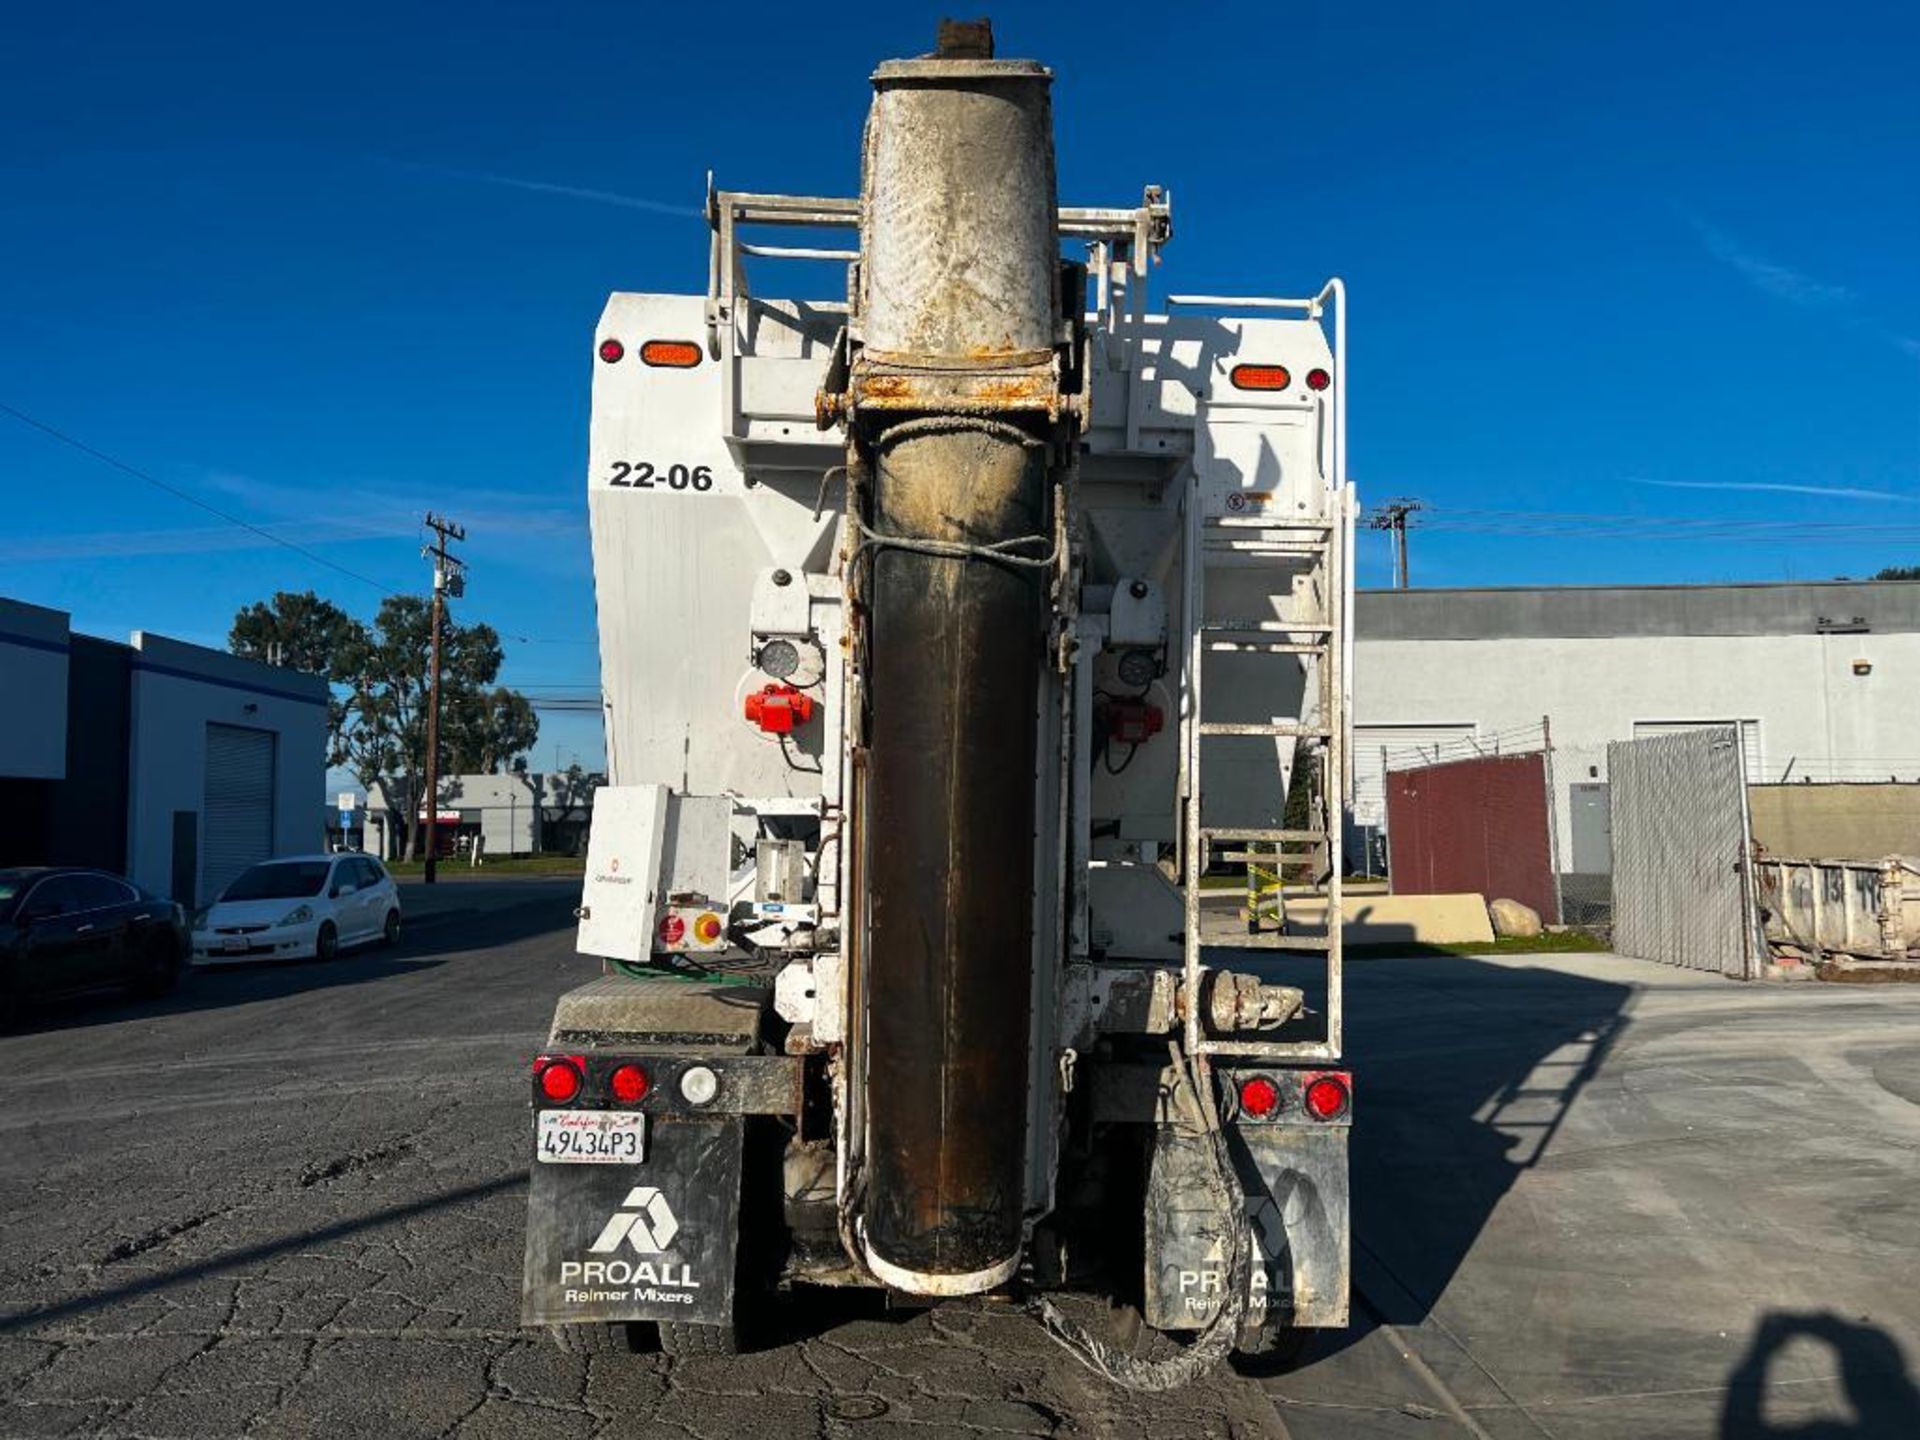
<svg viewBox="0 0 1920 1440"><path fill-rule="evenodd" d="M708 188L707 294L601 315L605 973L532 1064L526 1325L996 1294L1148 1388L1346 1325L1344 292L1148 309L1171 200L1062 207L1050 79L943 25L858 200ZM797 267L845 300L749 288Z"/></svg>

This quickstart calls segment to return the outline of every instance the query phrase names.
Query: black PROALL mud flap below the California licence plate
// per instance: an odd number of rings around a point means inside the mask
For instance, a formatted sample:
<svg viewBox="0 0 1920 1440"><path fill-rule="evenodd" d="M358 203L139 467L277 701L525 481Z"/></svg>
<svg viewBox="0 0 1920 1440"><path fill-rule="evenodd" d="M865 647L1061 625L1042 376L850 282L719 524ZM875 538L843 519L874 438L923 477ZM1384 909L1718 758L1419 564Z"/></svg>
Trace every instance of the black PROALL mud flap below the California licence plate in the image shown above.
<svg viewBox="0 0 1920 1440"><path fill-rule="evenodd" d="M733 1319L741 1116L653 1116L637 1165L532 1165L522 1325Z"/></svg>

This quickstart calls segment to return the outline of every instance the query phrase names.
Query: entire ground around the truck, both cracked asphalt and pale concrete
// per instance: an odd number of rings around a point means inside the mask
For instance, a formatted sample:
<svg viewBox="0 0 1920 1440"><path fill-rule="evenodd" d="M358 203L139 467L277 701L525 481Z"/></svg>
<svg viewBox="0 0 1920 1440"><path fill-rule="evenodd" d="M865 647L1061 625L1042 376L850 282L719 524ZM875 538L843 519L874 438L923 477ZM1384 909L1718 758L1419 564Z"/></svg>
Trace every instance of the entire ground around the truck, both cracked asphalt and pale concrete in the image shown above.
<svg viewBox="0 0 1920 1440"><path fill-rule="evenodd" d="M991 1304L520 1331L576 889L403 895L396 950L0 1037L0 1436L1920 1436L1920 989L1354 964L1357 1323L1142 1398Z"/></svg>

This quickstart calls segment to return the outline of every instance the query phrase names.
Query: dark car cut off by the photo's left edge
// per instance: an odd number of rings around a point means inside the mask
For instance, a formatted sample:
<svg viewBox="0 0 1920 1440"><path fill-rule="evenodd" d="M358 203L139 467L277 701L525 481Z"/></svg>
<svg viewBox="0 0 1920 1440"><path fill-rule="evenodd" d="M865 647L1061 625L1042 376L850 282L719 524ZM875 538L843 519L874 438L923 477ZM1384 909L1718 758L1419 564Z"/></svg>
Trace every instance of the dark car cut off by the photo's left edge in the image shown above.
<svg viewBox="0 0 1920 1440"><path fill-rule="evenodd" d="M186 962L186 914L104 870L0 870L0 1023L21 1002L127 985L165 995Z"/></svg>

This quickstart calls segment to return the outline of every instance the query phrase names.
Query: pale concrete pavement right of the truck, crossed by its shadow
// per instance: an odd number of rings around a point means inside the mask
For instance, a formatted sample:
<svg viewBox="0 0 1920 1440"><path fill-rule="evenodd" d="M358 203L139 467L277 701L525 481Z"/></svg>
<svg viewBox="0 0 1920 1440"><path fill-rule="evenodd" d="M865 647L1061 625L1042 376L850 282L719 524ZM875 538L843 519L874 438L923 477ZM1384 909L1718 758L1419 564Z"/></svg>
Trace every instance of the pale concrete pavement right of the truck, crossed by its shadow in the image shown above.
<svg viewBox="0 0 1920 1440"><path fill-rule="evenodd" d="M1920 1436L1920 993L1428 956L1348 1033L1361 1304L1267 1380L1296 1440Z"/></svg>

